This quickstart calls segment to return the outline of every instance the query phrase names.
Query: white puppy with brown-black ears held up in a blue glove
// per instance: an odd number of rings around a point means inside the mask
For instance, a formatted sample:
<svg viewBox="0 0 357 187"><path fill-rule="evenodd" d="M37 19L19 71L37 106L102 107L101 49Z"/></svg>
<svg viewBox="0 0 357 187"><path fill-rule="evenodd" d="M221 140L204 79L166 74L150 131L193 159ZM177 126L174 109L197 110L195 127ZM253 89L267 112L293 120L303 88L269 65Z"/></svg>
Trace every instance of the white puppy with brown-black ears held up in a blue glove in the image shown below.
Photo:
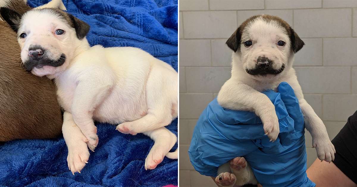
<svg viewBox="0 0 357 187"><path fill-rule="evenodd" d="M252 16L237 28L226 44L233 50L232 75L218 93L218 103L232 110L255 112L263 122L266 135L275 141L279 134L275 107L261 91L275 90L281 82L287 82L299 100L318 158L327 162L334 160L335 147L325 125L304 99L292 68L294 54L304 42L287 22L271 15ZM218 171L216 182L222 186L257 183L248 163L241 157L222 165Z"/></svg>

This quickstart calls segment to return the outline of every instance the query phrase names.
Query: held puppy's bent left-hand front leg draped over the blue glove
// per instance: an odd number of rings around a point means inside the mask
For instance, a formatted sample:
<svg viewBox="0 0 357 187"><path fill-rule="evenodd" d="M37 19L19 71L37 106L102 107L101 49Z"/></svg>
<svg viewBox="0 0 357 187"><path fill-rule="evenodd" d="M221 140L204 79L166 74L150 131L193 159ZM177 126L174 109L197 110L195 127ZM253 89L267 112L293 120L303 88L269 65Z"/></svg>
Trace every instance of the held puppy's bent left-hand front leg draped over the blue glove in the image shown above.
<svg viewBox="0 0 357 187"><path fill-rule="evenodd" d="M264 132L269 139L271 141L277 139L278 117L274 104L265 94L231 78L223 84L217 100L223 108L255 112L262 120Z"/></svg>

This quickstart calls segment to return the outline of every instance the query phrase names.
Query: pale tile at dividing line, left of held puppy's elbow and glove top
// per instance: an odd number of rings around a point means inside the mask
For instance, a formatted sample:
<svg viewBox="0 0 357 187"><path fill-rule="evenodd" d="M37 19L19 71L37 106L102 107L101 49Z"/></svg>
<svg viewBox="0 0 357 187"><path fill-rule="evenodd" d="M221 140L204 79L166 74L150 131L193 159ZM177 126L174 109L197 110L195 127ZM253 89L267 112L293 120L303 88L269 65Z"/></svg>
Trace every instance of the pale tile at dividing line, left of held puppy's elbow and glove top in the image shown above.
<svg viewBox="0 0 357 187"><path fill-rule="evenodd" d="M198 119L212 100L212 94L180 94L180 118Z"/></svg>

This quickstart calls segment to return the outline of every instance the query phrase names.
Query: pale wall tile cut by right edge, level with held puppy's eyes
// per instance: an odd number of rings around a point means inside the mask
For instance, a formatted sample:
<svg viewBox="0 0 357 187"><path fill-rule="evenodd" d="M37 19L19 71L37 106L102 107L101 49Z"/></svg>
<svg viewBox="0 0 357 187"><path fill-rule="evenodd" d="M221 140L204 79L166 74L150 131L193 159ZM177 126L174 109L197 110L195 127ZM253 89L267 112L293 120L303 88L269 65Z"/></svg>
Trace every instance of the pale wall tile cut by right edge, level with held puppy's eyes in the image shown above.
<svg viewBox="0 0 357 187"><path fill-rule="evenodd" d="M357 66L357 38L323 39L324 66Z"/></svg>

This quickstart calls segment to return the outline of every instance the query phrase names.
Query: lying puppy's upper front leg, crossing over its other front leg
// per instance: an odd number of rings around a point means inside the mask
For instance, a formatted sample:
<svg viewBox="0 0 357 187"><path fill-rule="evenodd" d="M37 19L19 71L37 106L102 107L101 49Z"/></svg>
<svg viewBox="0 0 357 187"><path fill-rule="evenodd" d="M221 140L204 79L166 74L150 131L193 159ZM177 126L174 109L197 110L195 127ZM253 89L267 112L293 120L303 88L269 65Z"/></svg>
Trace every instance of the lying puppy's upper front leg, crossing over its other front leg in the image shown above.
<svg viewBox="0 0 357 187"><path fill-rule="evenodd" d="M107 97L111 87L111 83L80 81L74 93L71 113L75 123L89 140L87 144L92 151L99 141L97 128L93 122L93 113L95 108Z"/></svg>

